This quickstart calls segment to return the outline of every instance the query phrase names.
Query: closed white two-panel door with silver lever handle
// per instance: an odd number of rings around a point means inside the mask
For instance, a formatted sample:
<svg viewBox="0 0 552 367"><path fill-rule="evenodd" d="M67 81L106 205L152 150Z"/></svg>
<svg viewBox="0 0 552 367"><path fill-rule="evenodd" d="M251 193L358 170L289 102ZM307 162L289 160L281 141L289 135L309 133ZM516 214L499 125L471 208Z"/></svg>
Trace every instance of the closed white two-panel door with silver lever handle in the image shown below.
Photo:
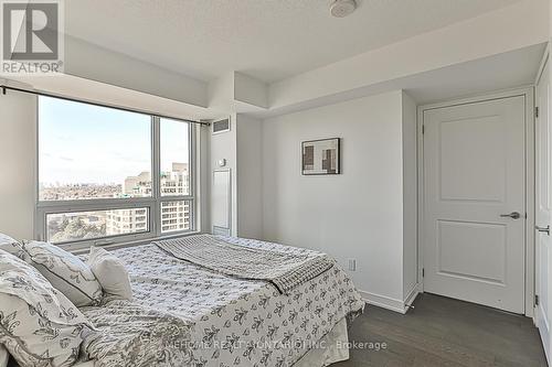
<svg viewBox="0 0 552 367"><path fill-rule="evenodd" d="M424 111L424 290L524 312L524 97Z"/></svg>

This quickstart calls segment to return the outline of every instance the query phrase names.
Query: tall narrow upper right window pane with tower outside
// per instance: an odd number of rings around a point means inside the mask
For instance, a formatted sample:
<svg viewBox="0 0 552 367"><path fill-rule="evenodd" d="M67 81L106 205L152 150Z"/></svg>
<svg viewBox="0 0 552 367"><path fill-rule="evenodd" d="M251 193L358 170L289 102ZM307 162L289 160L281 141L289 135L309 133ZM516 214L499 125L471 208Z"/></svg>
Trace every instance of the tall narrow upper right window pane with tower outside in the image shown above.
<svg viewBox="0 0 552 367"><path fill-rule="evenodd" d="M161 119L161 196L190 195L190 125Z"/></svg>

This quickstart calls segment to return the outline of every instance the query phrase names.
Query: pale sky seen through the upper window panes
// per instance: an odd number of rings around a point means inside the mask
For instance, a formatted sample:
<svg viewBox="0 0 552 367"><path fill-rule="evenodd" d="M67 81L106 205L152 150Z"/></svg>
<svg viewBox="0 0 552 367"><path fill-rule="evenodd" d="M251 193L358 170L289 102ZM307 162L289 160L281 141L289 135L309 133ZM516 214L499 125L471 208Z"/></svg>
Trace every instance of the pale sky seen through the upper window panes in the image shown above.
<svg viewBox="0 0 552 367"><path fill-rule="evenodd" d="M123 184L151 171L150 116L39 98L39 176L44 185ZM161 119L161 171L188 163L188 123Z"/></svg>

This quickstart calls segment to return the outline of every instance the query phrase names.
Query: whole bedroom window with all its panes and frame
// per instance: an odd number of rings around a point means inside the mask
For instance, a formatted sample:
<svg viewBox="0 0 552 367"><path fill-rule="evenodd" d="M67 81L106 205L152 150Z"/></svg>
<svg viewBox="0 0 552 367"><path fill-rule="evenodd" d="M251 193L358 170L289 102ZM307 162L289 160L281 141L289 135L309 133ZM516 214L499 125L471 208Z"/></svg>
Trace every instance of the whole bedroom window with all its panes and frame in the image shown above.
<svg viewBox="0 0 552 367"><path fill-rule="evenodd" d="M40 96L40 237L107 244L193 230L193 127Z"/></svg>

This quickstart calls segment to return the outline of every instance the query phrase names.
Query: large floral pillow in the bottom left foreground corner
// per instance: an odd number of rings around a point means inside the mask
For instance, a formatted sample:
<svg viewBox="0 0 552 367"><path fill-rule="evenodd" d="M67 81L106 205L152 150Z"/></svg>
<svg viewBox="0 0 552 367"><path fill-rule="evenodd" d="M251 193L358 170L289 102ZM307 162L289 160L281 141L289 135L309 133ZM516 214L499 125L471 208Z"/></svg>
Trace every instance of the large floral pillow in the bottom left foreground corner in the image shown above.
<svg viewBox="0 0 552 367"><path fill-rule="evenodd" d="M0 344L20 366L65 367L92 324L33 267L0 250Z"/></svg>

